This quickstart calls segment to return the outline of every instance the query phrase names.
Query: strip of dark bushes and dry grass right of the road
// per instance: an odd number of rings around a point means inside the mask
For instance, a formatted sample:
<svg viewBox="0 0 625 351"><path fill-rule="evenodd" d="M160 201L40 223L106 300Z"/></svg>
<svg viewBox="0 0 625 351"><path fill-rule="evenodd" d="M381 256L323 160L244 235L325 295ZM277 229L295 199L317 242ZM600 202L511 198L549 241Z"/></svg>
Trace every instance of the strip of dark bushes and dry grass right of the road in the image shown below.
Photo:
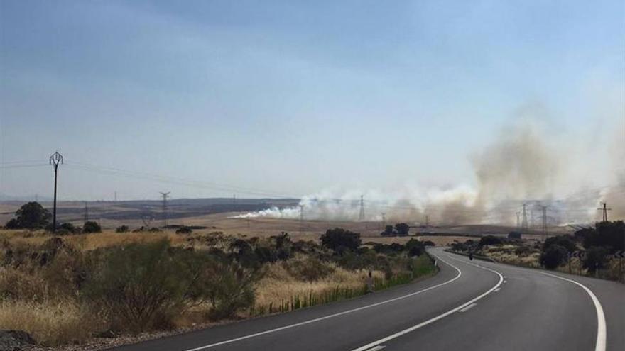
<svg viewBox="0 0 625 351"><path fill-rule="evenodd" d="M479 240L453 243L451 249L497 262L622 282L625 260L619 260L615 254L623 252L624 245L624 222L607 221L596 223L594 228L577 230L573 235L549 237L544 242L521 240L521 235L511 233L508 238L487 235Z"/></svg>

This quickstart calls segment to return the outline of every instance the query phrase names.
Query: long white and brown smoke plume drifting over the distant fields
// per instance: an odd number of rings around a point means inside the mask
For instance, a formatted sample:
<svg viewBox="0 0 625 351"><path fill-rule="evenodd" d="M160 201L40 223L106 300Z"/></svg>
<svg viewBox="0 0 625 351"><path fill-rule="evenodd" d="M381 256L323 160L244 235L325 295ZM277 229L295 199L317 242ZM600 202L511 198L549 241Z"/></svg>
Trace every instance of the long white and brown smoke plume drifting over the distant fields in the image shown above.
<svg viewBox="0 0 625 351"><path fill-rule="evenodd" d="M591 223L597 219L599 201L613 204L612 218L625 218L625 168L619 171L612 167L625 165L624 130L616 133L616 157L604 167L597 165L592 154L576 152L588 149L580 145L583 142L578 138L550 133L544 123L538 122L544 113L540 106L522 108L514 123L472 155L474 186L407 187L395 192L322 191L301 199L303 216L307 220L358 221L362 195L365 221L381 221L384 216L389 223L515 225L520 216L517 212L525 203L529 221L535 223L540 221L539 206L543 205L548 206L550 224ZM592 178L579 172L585 168L592 168L592 172L607 168L614 179L598 187L587 182ZM298 219L300 208L270 208L237 217Z"/></svg>

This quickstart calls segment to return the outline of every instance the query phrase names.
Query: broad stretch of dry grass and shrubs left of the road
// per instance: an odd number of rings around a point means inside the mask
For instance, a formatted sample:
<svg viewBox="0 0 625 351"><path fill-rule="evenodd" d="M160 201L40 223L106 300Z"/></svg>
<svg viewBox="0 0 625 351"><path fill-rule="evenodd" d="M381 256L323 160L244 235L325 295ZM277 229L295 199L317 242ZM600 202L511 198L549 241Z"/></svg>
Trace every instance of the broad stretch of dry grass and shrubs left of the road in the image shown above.
<svg viewBox="0 0 625 351"><path fill-rule="evenodd" d="M100 233L88 222L53 236L45 209L26 210L36 225L18 215L0 232L0 329L45 346L293 311L435 273L415 239L363 245L342 228L318 242L185 227Z"/></svg>

